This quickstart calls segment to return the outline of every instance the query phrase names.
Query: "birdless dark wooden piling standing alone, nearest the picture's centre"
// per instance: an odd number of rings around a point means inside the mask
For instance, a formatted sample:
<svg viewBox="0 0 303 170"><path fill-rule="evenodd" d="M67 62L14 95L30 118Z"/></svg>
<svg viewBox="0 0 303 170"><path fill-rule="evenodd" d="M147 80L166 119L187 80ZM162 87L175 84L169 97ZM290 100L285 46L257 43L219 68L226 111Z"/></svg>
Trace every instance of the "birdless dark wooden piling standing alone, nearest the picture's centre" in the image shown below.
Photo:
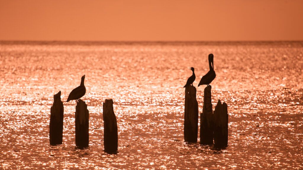
<svg viewBox="0 0 303 170"><path fill-rule="evenodd" d="M116 152L118 150L118 126L113 103L112 99L105 99L103 103L105 152Z"/></svg>

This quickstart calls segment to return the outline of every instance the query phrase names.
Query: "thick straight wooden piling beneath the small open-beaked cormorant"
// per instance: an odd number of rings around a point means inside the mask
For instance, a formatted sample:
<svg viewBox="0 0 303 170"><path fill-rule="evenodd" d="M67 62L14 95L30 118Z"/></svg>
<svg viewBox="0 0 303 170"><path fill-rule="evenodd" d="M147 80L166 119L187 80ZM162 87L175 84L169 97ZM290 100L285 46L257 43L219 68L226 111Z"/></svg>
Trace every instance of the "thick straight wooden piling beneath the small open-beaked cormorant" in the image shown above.
<svg viewBox="0 0 303 170"><path fill-rule="evenodd" d="M197 142L198 138L198 101L197 89L194 86L185 87L184 107L184 141Z"/></svg>

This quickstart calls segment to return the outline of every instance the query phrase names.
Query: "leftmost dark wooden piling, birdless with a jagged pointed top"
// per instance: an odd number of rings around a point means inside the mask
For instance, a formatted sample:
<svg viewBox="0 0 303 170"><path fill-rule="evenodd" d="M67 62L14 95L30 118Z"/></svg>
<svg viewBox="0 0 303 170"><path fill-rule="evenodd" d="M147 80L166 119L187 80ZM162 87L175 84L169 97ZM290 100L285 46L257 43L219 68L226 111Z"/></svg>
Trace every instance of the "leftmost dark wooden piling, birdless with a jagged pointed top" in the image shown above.
<svg viewBox="0 0 303 170"><path fill-rule="evenodd" d="M49 121L49 143L51 145L62 144L64 107L61 101L61 91L54 95L54 103L51 107Z"/></svg>

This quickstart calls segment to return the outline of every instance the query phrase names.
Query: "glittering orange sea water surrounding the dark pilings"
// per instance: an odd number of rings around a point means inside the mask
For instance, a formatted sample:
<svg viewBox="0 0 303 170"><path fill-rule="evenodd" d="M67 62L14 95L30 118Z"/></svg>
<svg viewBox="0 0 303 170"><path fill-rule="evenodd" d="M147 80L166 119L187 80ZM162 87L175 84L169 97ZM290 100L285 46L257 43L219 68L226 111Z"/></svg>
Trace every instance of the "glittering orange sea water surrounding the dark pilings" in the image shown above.
<svg viewBox="0 0 303 170"><path fill-rule="evenodd" d="M213 109L228 104L226 149L183 139L184 89L214 54ZM0 169L302 169L303 42L0 43ZM89 147L75 147L85 74ZM197 87L199 112L203 90ZM49 145L53 95L63 142ZM103 151L102 102L114 100L118 153ZM199 142L199 140L198 140Z"/></svg>

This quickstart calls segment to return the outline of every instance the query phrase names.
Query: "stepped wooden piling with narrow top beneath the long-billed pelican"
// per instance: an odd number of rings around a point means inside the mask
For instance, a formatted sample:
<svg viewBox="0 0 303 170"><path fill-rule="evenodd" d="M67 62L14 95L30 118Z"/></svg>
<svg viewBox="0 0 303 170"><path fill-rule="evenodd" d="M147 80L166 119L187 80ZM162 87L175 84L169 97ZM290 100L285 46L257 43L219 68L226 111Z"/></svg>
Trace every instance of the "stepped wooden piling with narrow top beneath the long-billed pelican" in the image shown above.
<svg viewBox="0 0 303 170"><path fill-rule="evenodd" d="M204 89L203 110L200 115L200 144L211 145L214 138L214 116L211 104L211 86Z"/></svg>

